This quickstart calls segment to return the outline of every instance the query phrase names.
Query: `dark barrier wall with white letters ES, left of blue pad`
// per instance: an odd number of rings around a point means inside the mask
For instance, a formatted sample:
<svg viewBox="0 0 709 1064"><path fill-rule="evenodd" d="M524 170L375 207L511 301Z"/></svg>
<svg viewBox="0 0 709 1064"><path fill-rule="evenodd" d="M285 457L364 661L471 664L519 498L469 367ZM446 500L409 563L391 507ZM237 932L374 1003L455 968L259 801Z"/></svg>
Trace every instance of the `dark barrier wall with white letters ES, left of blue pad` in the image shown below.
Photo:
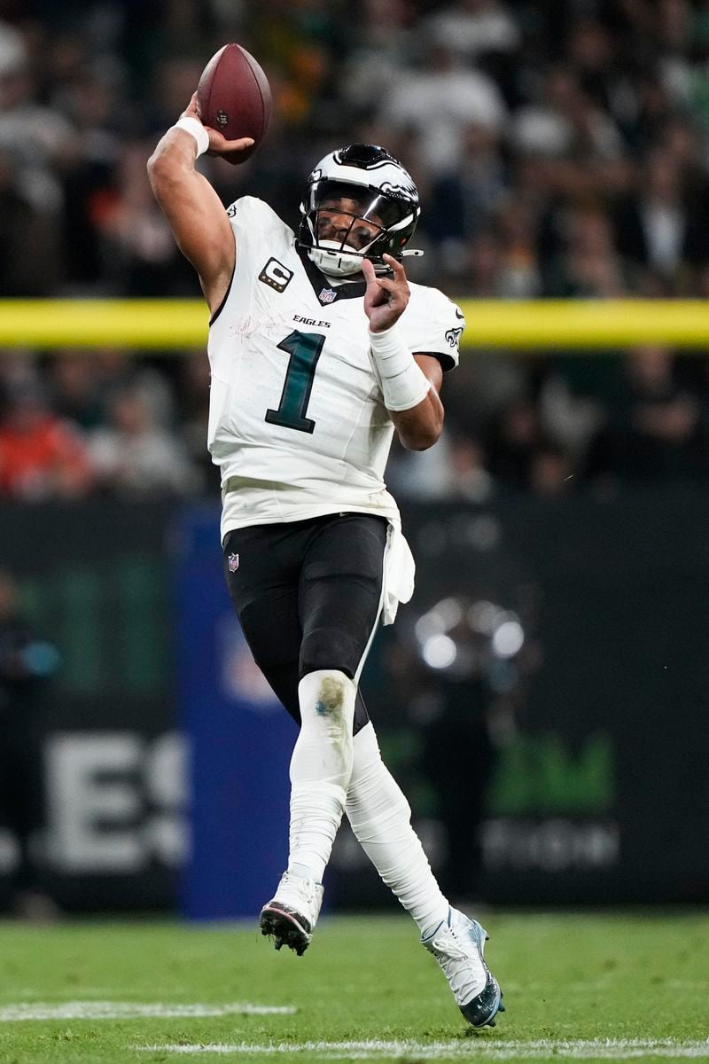
<svg viewBox="0 0 709 1064"><path fill-rule="evenodd" d="M41 817L30 811L38 821L33 885L70 910L172 904L186 824L171 523L169 505L0 508L0 566L18 579L28 625L61 655L13 728L21 730L22 767L37 772L44 805ZM0 731L9 715L0 708ZM5 824L13 812L0 809ZM0 827L5 904L17 857Z"/></svg>

